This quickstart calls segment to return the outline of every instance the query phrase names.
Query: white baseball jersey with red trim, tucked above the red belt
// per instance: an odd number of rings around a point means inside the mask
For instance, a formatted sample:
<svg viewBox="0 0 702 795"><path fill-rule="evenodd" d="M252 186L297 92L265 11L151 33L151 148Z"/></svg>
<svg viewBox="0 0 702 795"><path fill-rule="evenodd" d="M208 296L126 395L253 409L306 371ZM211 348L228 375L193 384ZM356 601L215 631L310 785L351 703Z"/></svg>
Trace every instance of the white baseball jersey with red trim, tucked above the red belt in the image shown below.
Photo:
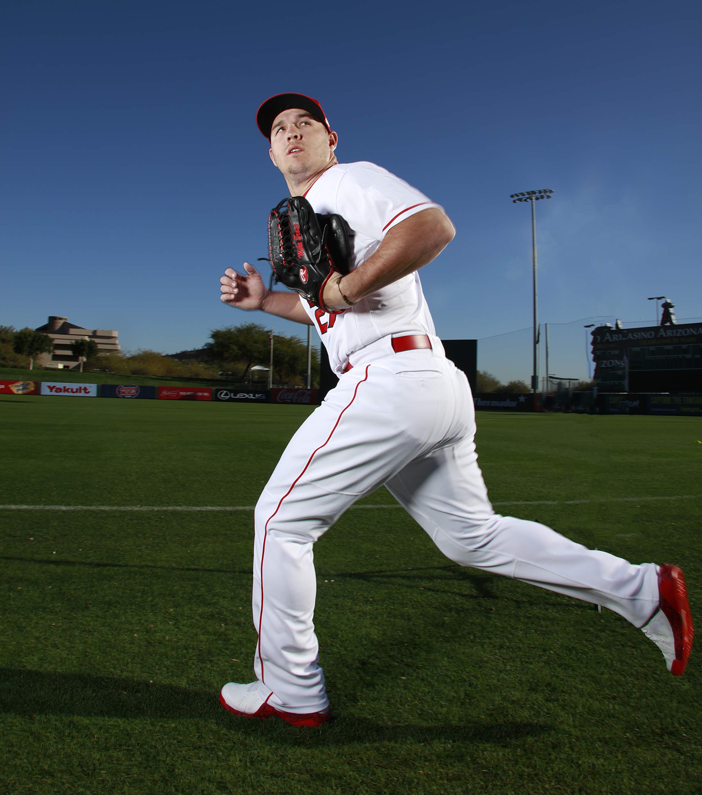
<svg viewBox="0 0 702 795"><path fill-rule="evenodd" d="M439 207L417 188L374 163L339 163L304 194L315 212L338 213L350 227L351 268L366 262L388 231L428 207ZM428 334L434 323L418 273L371 293L353 308L328 315L301 298L327 348L329 363L342 374L354 351L389 335Z"/></svg>

